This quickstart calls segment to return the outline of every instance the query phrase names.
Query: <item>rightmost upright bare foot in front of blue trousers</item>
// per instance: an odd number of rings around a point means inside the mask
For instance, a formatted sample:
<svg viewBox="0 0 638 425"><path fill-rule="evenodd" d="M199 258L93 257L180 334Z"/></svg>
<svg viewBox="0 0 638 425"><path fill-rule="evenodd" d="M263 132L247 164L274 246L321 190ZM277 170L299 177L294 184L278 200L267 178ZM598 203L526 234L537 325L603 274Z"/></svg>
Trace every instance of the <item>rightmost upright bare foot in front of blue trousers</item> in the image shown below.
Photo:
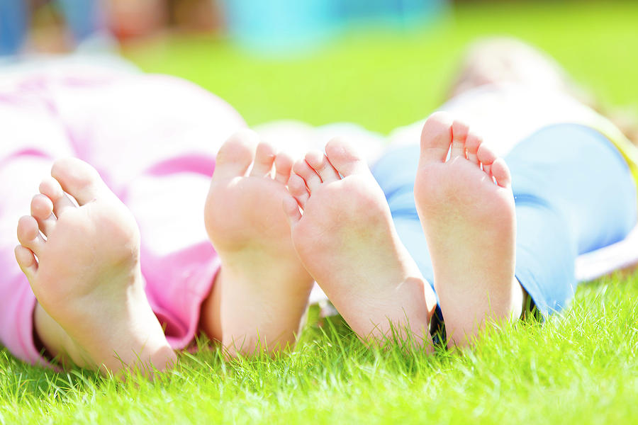
<svg viewBox="0 0 638 425"><path fill-rule="evenodd" d="M466 125L445 113L427 119L414 194L455 344L467 344L486 319L521 314L510 184L505 161Z"/></svg>

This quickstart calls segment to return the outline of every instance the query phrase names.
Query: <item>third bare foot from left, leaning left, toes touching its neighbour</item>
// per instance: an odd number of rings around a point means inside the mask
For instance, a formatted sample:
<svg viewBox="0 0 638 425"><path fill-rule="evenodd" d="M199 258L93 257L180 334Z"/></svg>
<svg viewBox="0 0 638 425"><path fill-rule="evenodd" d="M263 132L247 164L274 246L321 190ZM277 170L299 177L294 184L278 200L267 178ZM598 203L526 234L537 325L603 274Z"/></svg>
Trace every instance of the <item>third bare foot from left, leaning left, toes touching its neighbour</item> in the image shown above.
<svg viewBox="0 0 638 425"><path fill-rule="evenodd" d="M435 296L398 239L384 193L344 142L325 152L297 162L289 181L294 199L284 208L299 258L362 339L409 327L422 345Z"/></svg>

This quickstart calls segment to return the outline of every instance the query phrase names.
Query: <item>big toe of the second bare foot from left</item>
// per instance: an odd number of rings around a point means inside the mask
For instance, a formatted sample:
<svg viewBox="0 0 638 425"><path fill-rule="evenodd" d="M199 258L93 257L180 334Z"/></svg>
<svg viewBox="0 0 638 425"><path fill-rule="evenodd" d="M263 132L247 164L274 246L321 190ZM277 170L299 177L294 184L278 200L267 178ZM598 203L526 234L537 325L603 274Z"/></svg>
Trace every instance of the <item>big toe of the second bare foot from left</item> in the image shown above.
<svg viewBox="0 0 638 425"><path fill-rule="evenodd" d="M244 176L252 164L259 136L252 130L240 130L219 148L213 179Z"/></svg>

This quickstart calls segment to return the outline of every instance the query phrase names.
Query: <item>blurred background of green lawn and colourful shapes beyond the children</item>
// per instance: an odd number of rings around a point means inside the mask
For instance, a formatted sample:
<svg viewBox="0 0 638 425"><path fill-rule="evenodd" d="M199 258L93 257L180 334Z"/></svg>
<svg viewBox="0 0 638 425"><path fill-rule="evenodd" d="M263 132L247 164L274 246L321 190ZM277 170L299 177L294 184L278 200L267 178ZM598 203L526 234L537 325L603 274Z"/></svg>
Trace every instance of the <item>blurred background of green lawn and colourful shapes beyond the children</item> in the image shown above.
<svg viewBox="0 0 638 425"><path fill-rule="evenodd" d="M440 105L486 35L540 47L605 108L637 114L637 1L0 0L0 64L121 55L213 91L250 125L387 133Z"/></svg>

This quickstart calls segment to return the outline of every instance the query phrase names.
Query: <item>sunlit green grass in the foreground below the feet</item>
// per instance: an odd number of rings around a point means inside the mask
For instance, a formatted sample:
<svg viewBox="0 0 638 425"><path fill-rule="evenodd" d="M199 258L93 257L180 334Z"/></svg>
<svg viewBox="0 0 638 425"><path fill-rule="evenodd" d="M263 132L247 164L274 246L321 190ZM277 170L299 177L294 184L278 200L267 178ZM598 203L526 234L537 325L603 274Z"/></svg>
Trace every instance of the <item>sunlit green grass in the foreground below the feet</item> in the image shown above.
<svg viewBox="0 0 638 425"><path fill-rule="evenodd" d="M5 423L630 423L638 414L638 274L581 288L549 322L491 331L473 351L365 348L340 319L280 358L203 348L156 382L0 357ZM46 419L43 416L46 416Z"/></svg>

